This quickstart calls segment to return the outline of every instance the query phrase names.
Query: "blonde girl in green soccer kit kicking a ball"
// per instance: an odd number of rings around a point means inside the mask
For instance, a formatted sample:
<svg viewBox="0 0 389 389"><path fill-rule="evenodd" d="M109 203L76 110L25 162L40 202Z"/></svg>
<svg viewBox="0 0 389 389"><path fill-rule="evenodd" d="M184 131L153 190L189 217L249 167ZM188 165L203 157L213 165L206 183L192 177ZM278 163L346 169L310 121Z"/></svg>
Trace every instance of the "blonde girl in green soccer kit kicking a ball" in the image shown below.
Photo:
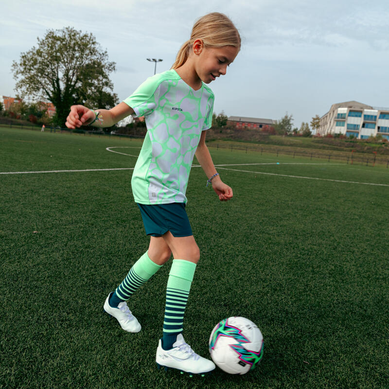
<svg viewBox="0 0 389 389"><path fill-rule="evenodd" d="M208 177L207 186L221 201L232 198L222 182L205 144L212 125L212 90L206 85L225 75L240 50L241 39L231 20L220 13L195 22L191 38L179 50L170 71L148 78L124 102L112 109L93 111L72 106L69 128L92 124L109 127L126 116L144 116L147 134L131 179L135 202L150 235L148 250L131 267L126 278L106 298L104 310L128 332L141 325L126 301L169 260L173 263L166 289L162 338L157 364L195 374L212 371L212 361L195 354L182 336L186 303L199 248L185 211L185 196L194 155Z"/></svg>

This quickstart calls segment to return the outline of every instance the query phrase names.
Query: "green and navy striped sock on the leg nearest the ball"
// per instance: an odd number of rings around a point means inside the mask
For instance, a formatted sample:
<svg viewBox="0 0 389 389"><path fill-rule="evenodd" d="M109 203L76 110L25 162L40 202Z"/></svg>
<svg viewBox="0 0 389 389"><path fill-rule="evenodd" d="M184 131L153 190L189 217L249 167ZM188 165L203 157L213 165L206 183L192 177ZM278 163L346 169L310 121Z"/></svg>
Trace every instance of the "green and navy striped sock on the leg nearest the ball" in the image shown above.
<svg viewBox="0 0 389 389"><path fill-rule="evenodd" d="M182 259L173 260L166 288L165 318L162 348L170 350L177 335L182 333L186 303L191 290L196 264Z"/></svg>

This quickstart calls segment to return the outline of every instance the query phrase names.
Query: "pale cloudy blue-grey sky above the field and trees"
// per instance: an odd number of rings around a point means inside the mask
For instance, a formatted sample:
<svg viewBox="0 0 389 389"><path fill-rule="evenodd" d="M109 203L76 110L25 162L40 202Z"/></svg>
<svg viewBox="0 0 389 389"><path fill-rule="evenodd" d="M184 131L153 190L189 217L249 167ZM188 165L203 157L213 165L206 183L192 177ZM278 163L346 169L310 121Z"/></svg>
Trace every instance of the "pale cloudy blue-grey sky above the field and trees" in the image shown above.
<svg viewBox="0 0 389 389"><path fill-rule="evenodd" d="M389 6L385 0L0 0L0 95L15 96L13 61L47 30L92 33L116 62L114 92L128 97L161 58L169 70L193 23L209 12L229 16L242 49L209 86L214 112L294 126L356 100L389 107Z"/></svg>

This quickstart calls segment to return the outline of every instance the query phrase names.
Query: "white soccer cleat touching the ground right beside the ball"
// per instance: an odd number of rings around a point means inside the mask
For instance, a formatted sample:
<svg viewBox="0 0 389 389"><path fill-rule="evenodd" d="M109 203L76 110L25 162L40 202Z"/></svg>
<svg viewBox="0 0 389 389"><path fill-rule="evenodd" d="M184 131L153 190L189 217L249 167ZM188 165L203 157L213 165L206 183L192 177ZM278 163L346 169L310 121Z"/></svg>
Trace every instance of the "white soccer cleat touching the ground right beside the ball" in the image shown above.
<svg viewBox="0 0 389 389"><path fill-rule="evenodd" d="M177 335L177 340L171 350L163 350L159 339L156 362L158 368L177 369L182 372L204 375L215 368L215 364L209 359L196 354L189 344L185 343L182 334Z"/></svg>

